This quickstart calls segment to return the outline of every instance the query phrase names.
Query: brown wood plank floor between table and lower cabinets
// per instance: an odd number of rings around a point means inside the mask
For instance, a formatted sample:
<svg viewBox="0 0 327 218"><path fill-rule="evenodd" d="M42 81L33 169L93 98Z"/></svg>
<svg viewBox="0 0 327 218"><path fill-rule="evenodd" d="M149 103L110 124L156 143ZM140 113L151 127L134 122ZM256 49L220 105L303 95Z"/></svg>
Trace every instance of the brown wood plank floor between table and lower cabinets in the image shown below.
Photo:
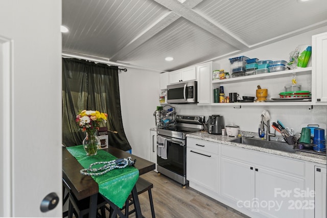
<svg viewBox="0 0 327 218"><path fill-rule="evenodd" d="M164 175L159 176L154 171L141 177L153 183L152 197L156 218L248 217L189 186L182 188L179 183ZM139 201L143 215L150 218L148 192L142 193ZM129 217L134 218L135 215Z"/></svg>

